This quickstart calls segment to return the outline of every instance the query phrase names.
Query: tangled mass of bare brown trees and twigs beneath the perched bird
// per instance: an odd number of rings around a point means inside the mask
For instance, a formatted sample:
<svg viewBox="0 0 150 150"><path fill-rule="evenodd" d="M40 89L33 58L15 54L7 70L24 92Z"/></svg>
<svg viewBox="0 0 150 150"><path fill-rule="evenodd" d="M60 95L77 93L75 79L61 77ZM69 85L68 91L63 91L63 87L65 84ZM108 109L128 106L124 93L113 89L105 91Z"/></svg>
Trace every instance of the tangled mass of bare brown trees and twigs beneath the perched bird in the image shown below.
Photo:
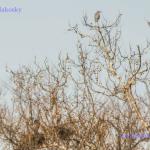
<svg viewBox="0 0 150 150"><path fill-rule="evenodd" d="M69 27L79 39L78 60L10 69L13 106L0 109L5 149L141 150L149 142L131 137L150 131L149 42L125 51L121 14L112 23L99 18L84 16L83 32Z"/></svg>

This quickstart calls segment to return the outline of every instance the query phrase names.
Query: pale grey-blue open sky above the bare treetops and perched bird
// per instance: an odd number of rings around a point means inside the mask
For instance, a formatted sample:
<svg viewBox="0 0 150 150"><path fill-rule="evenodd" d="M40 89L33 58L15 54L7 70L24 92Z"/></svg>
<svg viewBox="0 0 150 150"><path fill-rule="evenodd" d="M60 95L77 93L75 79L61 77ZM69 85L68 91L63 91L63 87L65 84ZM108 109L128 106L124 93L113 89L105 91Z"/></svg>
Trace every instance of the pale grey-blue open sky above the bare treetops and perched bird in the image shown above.
<svg viewBox="0 0 150 150"><path fill-rule="evenodd" d="M68 24L80 23L86 12L93 17L101 10L113 20L123 14L122 40L142 44L150 38L150 0L0 0L1 7L21 8L20 13L0 12L0 79L6 80L5 65L16 68L39 61L57 60L58 53L75 52L75 38Z"/></svg>

